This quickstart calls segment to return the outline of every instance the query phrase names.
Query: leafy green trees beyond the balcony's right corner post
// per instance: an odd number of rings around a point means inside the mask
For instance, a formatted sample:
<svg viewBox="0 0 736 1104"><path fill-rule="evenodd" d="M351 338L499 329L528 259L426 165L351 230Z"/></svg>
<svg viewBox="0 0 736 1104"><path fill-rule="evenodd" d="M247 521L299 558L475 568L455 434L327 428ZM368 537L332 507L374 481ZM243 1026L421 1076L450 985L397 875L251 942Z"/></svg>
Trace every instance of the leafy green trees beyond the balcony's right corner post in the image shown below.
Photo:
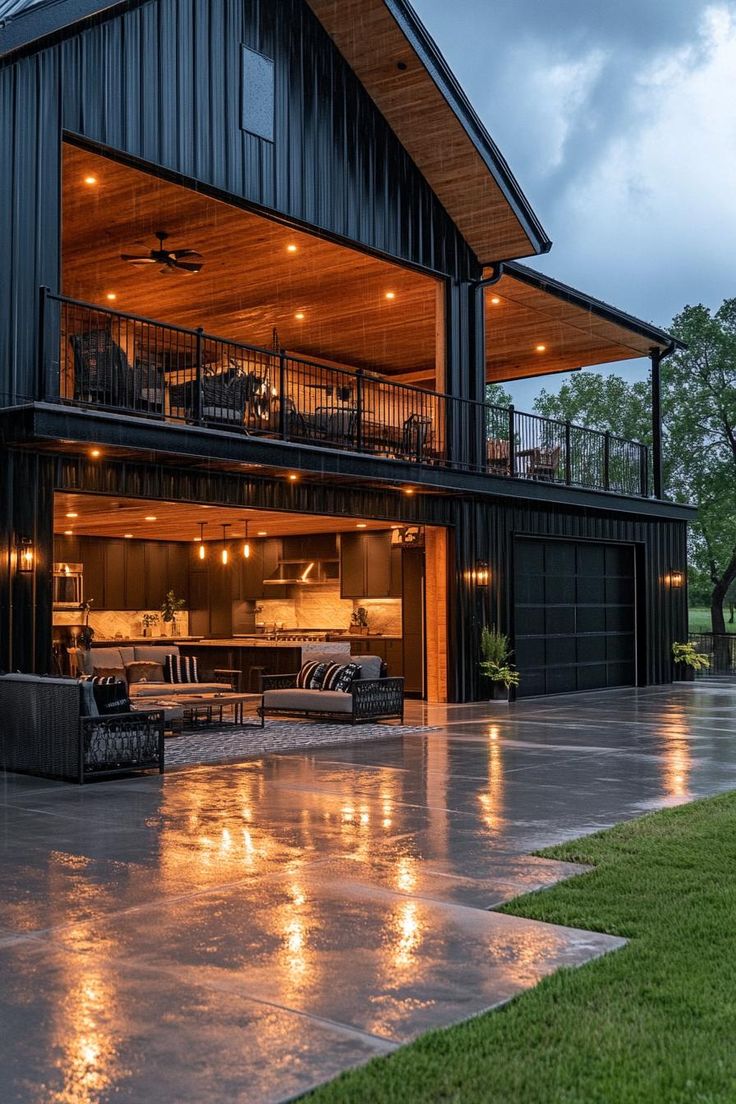
<svg viewBox="0 0 736 1104"><path fill-rule="evenodd" d="M687 348L662 363L663 480L668 497L697 506L691 562L710 583L714 633L725 633L724 601L736 584L736 299L712 314L685 307L672 332ZM535 408L651 444L650 384L580 372Z"/></svg>

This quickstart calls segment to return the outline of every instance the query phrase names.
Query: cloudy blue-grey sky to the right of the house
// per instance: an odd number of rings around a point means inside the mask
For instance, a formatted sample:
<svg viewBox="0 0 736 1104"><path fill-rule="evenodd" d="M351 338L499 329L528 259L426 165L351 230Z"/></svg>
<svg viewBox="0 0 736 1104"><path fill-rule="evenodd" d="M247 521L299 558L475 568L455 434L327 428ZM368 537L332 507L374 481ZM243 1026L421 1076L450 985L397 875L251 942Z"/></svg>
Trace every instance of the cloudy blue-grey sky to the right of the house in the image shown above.
<svg viewBox="0 0 736 1104"><path fill-rule="evenodd" d="M414 3L554 242L537 267L664 327L736 295L736 0Z"/></svg>

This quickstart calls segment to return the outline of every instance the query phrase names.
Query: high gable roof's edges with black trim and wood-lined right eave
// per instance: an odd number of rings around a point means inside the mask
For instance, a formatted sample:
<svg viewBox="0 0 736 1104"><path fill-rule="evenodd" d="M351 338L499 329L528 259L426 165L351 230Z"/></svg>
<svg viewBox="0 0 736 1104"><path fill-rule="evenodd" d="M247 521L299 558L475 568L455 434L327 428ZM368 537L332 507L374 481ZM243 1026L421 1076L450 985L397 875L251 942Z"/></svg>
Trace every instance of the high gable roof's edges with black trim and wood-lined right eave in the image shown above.
<svg viewBox="0 0 736 1104"><path fill-rule="evenodd" d="M0 0L0 57L130 3ZM546 253L552 242L407 0L307 3L479 261Z"/></svg>

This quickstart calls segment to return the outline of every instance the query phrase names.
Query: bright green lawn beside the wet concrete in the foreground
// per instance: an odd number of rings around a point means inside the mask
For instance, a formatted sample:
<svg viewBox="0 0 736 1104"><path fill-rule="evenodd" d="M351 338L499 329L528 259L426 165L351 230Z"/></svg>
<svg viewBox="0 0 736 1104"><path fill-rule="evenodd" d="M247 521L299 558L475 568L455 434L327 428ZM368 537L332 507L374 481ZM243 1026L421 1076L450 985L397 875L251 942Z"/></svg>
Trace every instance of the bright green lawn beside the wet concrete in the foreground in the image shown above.
<svg viewBox="0 0 736 1104"><path fill-rule="evenodd" d="M734 1104L736 794L542 853L596 870L504 911L629 945L344 1074L309 1104Z"/></svg>

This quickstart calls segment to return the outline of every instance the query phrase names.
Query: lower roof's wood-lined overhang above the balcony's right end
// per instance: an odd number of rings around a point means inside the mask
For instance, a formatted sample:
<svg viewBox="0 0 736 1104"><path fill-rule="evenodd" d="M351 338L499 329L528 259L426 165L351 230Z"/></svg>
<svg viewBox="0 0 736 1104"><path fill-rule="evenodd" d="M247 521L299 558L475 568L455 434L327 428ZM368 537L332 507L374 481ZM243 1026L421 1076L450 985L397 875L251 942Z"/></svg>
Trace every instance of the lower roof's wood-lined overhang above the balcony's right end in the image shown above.
<svg viewBox="0 0 736 1104"><path fill-rule="evenodd" d="M683 348L659 327L525 265L503 264L489 277L489 381L572 372Z"/></svg>

